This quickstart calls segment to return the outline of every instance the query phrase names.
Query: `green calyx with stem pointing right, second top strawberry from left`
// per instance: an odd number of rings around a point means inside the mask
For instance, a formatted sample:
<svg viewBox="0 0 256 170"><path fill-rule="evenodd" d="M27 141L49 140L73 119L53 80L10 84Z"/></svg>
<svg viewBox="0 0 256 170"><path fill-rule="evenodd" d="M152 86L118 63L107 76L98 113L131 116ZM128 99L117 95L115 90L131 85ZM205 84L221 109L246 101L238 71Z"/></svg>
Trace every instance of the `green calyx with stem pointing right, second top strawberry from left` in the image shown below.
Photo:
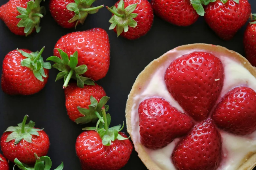
<svg viewBox="0 0 256 170"><path fill-rule="evenodd" d="M75 3L68 4L66 8L75 12L75 16L68 22L71 23L77 21L76 26L79 22L83 24L88 14L94 14L98 12L100 8L104 7L104 5L92 7L94 2L95 0L75 0Z"/></svg>

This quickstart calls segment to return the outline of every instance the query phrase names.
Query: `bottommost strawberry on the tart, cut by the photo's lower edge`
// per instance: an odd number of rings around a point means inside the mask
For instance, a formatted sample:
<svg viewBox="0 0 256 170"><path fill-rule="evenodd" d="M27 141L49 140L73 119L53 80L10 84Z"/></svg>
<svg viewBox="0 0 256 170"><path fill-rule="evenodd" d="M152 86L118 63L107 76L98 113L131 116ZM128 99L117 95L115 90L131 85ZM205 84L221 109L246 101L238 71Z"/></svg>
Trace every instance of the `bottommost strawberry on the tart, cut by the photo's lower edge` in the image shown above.
<svg viewBox="0 0 256 170"><path fill-rule="evenodd" d="M221 136L211 119L198 123L172 153L177 169L215 170L221 161Z"/></svg>

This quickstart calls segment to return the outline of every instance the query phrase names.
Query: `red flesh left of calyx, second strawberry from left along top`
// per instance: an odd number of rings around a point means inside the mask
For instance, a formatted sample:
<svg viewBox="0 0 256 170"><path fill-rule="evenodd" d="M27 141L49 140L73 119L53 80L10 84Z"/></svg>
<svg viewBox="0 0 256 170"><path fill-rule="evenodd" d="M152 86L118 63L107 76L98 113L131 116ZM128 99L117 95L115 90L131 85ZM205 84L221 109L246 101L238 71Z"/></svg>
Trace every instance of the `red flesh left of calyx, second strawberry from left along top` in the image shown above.
<svg viewBox="0 0 256 170"><path fill-rule="evenodd" d="M50 0L49 9L52 17L63 28L75 28L76 26L76 22L68 22L75 16L75 12L66 8L68 4L74 2L74 0Z"/></svg>

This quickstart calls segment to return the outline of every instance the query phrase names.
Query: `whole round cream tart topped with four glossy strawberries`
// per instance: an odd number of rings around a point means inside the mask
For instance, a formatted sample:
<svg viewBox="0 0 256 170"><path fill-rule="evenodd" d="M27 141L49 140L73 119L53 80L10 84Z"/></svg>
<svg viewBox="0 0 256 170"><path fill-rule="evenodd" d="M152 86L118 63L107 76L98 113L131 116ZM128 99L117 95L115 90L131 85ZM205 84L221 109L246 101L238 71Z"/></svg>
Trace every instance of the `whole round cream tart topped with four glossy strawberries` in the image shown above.
<svg viewBox="0 0 256 170"><path fill-rule="evenodd" d="M256 68L209 44L179 46L137 77L127 130L149 170L252 170Z"/></svg>

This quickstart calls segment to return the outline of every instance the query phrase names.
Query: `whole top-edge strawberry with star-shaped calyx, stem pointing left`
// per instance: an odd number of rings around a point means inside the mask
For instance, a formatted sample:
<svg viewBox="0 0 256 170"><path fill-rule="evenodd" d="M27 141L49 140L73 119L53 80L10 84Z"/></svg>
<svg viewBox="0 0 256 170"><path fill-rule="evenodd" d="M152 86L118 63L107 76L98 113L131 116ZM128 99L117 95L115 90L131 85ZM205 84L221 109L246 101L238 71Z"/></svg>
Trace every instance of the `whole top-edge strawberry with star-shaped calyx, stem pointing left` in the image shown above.
<svg viewBox="0 0 256 170"><path fill-rule="evenodd" d="M146 35L153 24L154 14L148 0L119 0L111 8L113 14L110 19L110 30L117 36L127 39L137 39Z"/></svg>

